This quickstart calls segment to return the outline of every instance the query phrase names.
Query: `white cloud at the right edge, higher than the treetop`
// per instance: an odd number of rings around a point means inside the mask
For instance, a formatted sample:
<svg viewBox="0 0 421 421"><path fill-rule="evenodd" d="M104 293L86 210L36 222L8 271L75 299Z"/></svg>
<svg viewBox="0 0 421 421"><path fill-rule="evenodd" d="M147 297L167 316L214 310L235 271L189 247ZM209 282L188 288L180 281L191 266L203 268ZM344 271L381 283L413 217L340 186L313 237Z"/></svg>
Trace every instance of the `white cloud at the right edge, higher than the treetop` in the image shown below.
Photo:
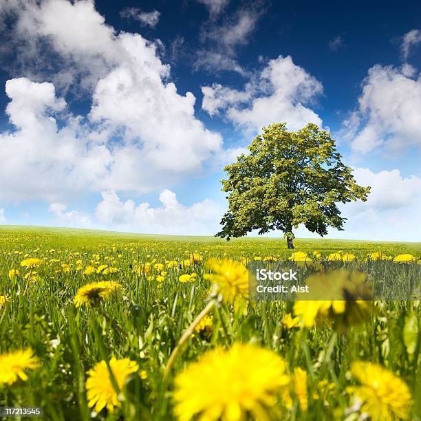
<svg viewBox="0 0 421 421"><path fill-rule="evenodd" d="M358 109L344 122L341 136L352 149L367 153L382 147L399 153L421 147L421 78L410 65L371 67Z"/></svg>

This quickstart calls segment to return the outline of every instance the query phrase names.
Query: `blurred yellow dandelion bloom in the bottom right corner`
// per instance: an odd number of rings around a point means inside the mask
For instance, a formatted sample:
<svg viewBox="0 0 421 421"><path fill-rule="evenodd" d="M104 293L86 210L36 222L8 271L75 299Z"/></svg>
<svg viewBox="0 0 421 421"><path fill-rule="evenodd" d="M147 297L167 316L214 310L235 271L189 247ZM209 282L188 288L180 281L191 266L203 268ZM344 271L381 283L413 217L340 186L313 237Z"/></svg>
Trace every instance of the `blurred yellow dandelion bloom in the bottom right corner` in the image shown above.
<svg viewBox="0 0 421 421"><path fill-rule="evenodd" d="M351 373L361 385L347 387L347 391L363 402L361 410L371 420L409 418L411 392L401 378L381 365L363 361L353 363Z"/></svg>

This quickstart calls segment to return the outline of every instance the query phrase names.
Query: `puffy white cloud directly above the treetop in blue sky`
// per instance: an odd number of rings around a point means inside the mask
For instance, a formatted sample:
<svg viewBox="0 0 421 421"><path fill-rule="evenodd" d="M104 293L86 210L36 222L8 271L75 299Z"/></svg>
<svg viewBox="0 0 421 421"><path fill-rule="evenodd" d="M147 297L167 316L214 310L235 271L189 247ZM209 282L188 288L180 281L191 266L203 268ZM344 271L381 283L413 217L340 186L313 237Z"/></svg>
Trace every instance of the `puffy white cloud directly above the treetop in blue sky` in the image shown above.
<svg viewBox="0 0 421 421"><path fill-rule="evenodd" d="M288 122L288 128L296 130L308 122L321 125L321 118L303 103L312 102L322 91L321 83L290 56L279 56L243 91L222 85L202 87L202 108L210 115L225 111L228 120L249 131L273 122Z"/></svg>

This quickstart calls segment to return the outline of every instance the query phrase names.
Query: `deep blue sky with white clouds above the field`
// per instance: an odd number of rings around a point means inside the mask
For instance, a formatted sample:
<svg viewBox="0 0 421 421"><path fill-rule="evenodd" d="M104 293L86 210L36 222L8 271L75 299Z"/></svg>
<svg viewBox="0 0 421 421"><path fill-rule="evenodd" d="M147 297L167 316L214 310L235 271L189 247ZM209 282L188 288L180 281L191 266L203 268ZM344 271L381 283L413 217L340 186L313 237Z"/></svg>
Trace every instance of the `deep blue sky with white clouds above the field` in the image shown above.
<svg viewBox="0 0 421 421"><path fill-rule="evenodd" d="M2 1L0 223L212 235L224 165L263 125L312 121L372 187L329 236L419 241L421 4L404 4Z"/></svg>

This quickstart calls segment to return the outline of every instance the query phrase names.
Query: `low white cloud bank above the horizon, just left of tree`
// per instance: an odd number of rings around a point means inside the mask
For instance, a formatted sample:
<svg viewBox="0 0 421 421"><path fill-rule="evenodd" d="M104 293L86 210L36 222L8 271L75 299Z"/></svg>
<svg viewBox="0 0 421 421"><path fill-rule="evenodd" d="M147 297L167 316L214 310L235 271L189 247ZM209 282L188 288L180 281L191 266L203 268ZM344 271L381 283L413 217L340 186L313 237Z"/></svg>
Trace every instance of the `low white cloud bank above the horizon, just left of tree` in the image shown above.
<svg viewBox="0 0 421 421"><path fill-rule="evenodd" d="M177 201L175 193L165 189L160 194L161 206L149 203L123 202L114 191L102 192L96 208L100 224L114 229L136 230L140 233L209 235L216 233L223 209L210 199L192 206Z"/></svg>

